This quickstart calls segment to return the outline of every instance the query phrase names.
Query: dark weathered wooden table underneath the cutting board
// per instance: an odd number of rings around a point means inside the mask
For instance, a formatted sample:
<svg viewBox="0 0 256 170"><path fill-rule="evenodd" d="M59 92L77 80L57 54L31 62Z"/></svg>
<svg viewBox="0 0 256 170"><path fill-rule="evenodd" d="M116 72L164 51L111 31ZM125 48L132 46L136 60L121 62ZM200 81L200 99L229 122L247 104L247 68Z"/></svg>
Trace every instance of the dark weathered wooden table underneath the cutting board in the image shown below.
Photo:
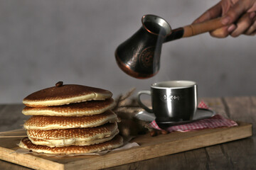
<svg viewBox="0 0 256 170"><path fill-rule="evenodd" d="M252 123L252 137L109 169L256 169L256 97L201 99L226 118ZM22 104L0 105L0 131L21 128L28 119L22 109ZM0 160L0 169L28 168Z"/></svg>

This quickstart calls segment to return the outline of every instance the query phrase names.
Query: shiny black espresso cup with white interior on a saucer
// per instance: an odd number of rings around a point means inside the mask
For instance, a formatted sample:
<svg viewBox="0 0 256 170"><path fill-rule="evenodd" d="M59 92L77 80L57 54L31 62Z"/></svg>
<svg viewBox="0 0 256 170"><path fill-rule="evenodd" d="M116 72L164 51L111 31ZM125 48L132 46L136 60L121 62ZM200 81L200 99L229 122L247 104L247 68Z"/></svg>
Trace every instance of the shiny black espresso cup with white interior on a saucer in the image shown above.
<svg viewBox="0 0 256 170"><path fill-rule="evenodd" d="M142 94L151 96L152 109L141 101ZM156 123L192 120L196 113L198 93L194 81L162 81L151 84L151 91L139 91L139 106L156 115Z"/></svg>

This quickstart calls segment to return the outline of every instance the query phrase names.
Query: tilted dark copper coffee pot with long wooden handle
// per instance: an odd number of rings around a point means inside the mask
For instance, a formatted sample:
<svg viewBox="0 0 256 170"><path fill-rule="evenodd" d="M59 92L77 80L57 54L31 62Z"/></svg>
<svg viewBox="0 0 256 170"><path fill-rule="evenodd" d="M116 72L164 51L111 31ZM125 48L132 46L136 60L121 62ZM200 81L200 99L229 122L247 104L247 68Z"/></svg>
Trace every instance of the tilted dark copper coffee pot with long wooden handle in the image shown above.
<svg viewBox="0 0 256 170"><path fill-rule="evenodd" d="M118 66L137 79L147 79L159 72L161 45L179 38L191 37L222 27L220 18L171 30L164 18L142 16L142 27L117 47Z"/></svg>

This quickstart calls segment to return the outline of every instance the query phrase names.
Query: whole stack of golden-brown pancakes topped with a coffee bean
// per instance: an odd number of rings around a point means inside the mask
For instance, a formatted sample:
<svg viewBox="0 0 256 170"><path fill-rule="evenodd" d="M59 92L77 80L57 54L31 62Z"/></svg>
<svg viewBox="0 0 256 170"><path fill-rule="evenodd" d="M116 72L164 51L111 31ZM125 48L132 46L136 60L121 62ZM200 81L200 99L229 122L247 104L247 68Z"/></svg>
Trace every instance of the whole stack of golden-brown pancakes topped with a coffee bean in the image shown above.
<svg viewBox="0 0 256 170"><path fill-rule="evenodd" d="M120 147L112 93L75 84L36 91L23 99L28 137L19 147L48 154L82 154Z"/></svg>

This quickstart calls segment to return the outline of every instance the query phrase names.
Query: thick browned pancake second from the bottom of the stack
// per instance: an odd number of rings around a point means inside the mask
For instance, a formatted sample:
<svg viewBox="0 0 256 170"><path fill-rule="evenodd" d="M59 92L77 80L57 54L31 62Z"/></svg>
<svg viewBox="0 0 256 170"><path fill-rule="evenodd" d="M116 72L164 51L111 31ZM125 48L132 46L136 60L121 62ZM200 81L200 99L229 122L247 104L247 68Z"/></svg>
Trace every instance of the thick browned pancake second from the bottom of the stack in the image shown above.
<svg viewBox="0 0 256 170"><path fill-rule="evenodd" d="M55 140L57 143L72 145L79 141L92 141L110 137L117 133L117 123L107 123L95 128L73 128L64 130L27 130L28 137ZM119 132L119 130L118 130Z"/></svg>

